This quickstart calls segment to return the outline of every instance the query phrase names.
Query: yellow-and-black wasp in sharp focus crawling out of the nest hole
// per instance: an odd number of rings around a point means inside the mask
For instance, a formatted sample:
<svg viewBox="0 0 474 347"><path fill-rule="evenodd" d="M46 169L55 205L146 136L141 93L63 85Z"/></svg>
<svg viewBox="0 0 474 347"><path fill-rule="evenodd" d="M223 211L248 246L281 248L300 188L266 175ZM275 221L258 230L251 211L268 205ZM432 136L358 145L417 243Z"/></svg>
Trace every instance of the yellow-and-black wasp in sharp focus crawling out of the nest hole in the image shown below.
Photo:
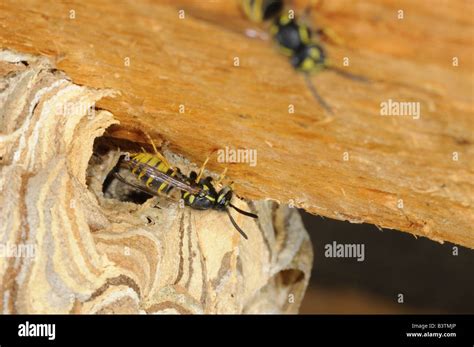
<svg viewBox="0 0 474 347"><path fill-rule="evenodd" d="M151 140L151 138L150 138ZM229 208L233 208L238 213L251 218L258 218L257 215L239 209L232 204L231 200L234 191L231 186L224 186L219 191L216 186L225 175L224 173L216 182L212 182L212 177L203 177L204 168L209 160L206 159L199 170L199 174L192 171L189 176L181 173L179 168L173 168L166 158L158 152L153 142L154 154L143 150L140 153L130 153L120 159L119 166L129 169L135 176L136 182L130 182L122 177L118 172L114 176L121 182L154 196L168 195L172 189L181 192L181 198L186 206L195 210L216 210L226 212L234 228L245 238L247 234L239 227L232 217Z"/></svg>

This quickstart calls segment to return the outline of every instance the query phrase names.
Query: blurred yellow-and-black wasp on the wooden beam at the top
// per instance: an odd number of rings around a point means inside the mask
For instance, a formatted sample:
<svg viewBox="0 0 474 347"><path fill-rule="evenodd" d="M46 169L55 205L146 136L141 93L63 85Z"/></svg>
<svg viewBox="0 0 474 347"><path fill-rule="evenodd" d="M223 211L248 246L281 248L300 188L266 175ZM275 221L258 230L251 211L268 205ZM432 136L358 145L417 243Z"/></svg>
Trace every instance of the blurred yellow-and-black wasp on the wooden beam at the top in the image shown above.
<svg viewBox="0 0 474 347"><path fill-rule="evenodd" d="M242 7L247 17L254 22L272 20L269 30L279 51L289 57L290 64L295 70L304 73L311 94L328 112L332 113L332 109L317 92L310 79L312 74L331 70L344 77L367 82L364 77L353 75L330 64L323 45L313 37L312 30L305 22L293 14L290 15L290 11L283 11L283 1L242 0ZM309 11L310 7L307 7L305 17L309 16ZM317 33L319 36L326 35L332 37L334 41L339 41L329 30L320 29Z"/></svg>

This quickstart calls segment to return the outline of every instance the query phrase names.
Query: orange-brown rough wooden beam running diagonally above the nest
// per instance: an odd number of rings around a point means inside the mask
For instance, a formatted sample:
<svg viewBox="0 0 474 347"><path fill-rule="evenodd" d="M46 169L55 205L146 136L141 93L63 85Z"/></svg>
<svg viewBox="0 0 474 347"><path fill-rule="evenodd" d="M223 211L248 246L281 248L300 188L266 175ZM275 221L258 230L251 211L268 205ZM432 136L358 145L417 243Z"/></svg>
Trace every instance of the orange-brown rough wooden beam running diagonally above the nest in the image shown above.
<svg viewBox="0 0 474 347"><path fill-rule="evenodd" d="M344 68L372 81L313 76L333 115L270 42L244 34L255 26L223 0L6 0L0 42L54 57L75 83L119 91L98 103L120 120L110 136L136 140L146 130L196 163L225 147L256 150L255 167L227 164L242 196L473 248L473 6L322 3L313 25L344 40L327 44L331 59L342 67L348 57ZM388 100L419 103L420 118L381 116Z"/></svg>

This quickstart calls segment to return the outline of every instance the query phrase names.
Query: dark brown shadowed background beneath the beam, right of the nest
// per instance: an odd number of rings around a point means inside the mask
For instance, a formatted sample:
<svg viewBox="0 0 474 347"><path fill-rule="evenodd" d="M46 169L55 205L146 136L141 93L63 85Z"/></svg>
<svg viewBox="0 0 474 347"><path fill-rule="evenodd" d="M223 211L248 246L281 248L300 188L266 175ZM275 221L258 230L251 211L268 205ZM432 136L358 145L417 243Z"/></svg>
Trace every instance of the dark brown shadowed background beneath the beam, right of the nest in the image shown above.
<svg viewBox="0 0 474 347"><path fill-rule="evenodd" d="M473 250L300 212L314 249L300 313L474 313ZM365 260L326 258L333 241L364 244Z"/></svg>

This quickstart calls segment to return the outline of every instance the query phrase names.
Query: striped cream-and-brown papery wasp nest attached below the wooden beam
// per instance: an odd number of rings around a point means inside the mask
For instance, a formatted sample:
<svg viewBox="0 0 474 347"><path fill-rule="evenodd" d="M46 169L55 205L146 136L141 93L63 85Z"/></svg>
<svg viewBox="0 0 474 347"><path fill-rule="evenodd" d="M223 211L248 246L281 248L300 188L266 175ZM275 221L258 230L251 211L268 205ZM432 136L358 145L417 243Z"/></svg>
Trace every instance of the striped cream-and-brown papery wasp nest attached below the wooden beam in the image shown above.
<svg viewBox="0 0 474 347"><path fill-rule="evenodd" d="M235 215L246 241L225 213L103 193L118 152L93 145L117 121L94 103L113 94L0 51L2 311L297 312L312 250L296 209L236 199L259 216Z"/></svg>

